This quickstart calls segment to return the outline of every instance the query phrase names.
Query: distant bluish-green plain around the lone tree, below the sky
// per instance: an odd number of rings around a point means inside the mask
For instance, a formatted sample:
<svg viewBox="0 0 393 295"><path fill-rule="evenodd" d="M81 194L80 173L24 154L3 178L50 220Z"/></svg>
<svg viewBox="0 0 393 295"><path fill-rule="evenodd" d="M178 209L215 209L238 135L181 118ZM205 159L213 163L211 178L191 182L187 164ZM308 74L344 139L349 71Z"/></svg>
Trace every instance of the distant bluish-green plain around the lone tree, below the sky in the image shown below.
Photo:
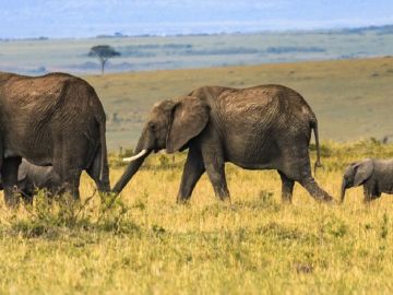
<svg viewBox="0 0 393 295"><path fill-rule="evenodd" d="M99 62L87 54L91 47L103 44L121 54L119 58L109 60L108 72L382 57L392 54L392 27L163 37L0 39L0 71L97 73Z"/></svg>

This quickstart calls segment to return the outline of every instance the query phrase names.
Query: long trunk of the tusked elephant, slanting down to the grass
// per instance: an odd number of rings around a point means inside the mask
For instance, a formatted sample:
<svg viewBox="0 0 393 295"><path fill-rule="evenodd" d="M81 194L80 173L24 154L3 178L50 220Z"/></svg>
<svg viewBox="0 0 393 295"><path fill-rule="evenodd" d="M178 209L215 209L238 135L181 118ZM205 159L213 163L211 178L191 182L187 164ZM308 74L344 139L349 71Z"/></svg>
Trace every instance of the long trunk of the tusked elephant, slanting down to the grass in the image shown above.
<svg viewBox="0 0 393 295"><path fill-rule="evenodd" d="M151 149L143 149L144 144L144 137L141 137L140 141L138 142L135 149L134 157L128 158L131 163L127 166L124 173L121 175L120 179L116 182L112 192L116 194L120 193L122 189L127 186L127 184L131 180L132 176L139 170L144 160L152 152ZM126 160L127 161L127 160Z"/></svg>

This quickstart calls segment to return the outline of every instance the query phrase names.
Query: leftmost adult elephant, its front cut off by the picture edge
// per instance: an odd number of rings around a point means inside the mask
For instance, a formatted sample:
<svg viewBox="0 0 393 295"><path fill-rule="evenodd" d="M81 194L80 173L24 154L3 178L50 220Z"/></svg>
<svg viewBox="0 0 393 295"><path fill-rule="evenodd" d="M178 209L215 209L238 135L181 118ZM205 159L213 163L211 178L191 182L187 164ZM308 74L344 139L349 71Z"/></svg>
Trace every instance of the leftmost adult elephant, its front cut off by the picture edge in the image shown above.
<svg viewBox="0 0 393 295"><path fill-rule="evenodd" d="M55 184L75 199L83 169L98 190L109 191L105 121L97 94L80 78L0 72L0 168L7 204L16 202L13 187L22 157L53 166Z"/></svg>

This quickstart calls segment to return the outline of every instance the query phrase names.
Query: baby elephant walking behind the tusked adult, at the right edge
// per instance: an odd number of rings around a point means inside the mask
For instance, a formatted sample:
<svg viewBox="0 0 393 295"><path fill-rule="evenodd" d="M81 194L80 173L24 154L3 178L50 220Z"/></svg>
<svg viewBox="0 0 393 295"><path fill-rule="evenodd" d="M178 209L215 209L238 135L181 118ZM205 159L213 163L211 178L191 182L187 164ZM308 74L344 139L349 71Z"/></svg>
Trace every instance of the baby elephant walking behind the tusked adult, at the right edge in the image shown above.
<svg viewBox="0 0 393 295"><path fill-rule="evenodd" d="M381 193L393 193L393 160L365 158L346 167L341 201L348 188L364 186L365 202L372 201Z"/></svg>

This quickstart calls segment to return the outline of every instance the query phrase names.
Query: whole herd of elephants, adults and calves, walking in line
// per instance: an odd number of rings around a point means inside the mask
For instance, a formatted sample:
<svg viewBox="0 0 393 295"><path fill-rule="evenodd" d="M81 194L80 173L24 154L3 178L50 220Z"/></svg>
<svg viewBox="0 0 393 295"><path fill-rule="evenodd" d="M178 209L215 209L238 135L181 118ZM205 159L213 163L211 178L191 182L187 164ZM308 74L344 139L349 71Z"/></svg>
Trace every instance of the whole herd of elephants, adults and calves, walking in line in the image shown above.
<svg viewBox="0 0 393 295"><path fill-rule="evenodd" d="M152 153L188 149L179 202L187 201L206 172L215 194L229 199L225 163L246 169L276 169L282 199L291 201L295 181L319 201L332 202L311 174L311 131L320 166L318 121L305 98L282 85L249 88L203 86L153 106L134 155L111 188L104 107L86 81L67 73L26 76L0 72L0 170L5 203L32 202L36 188L79 199L83 170L98 191L120 193ZM365 200L392 192L393 161L350 164L342 196L364 185Z"/></svg>

